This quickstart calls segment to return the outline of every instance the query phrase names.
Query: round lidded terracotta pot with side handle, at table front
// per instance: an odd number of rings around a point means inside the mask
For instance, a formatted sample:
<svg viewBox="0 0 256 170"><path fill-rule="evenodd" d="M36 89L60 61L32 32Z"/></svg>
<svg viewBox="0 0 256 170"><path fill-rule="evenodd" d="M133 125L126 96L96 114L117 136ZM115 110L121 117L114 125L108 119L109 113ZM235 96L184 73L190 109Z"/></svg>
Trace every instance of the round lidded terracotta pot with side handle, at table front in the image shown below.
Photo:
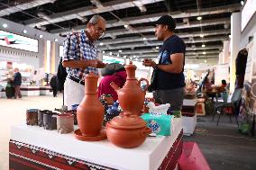
<svg viewBox="0 0 256 170"><path fill-rule="evenodd" d="M120 148L136 148L150 133L146 122L132 112L124 112L106 124L107 139Z"/></svg>

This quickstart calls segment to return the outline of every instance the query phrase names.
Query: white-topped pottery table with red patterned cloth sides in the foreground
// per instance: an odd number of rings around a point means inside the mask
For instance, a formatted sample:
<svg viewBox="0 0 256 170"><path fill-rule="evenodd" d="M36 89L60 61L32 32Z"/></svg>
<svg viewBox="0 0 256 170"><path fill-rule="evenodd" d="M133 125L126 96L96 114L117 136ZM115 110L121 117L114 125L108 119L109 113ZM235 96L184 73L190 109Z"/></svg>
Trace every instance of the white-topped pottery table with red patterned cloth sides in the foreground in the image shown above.
<svg viewBox="0 0 256 170"><path fill-rule="evenodd" d="M12 127L10 169L173 170L182 151L182 121L174 120L172 136L149 137L138 148L117 148L108 140L85 142L73 133L59 134L38 126ZM78 127L75 127L76 129Z"/></svg>

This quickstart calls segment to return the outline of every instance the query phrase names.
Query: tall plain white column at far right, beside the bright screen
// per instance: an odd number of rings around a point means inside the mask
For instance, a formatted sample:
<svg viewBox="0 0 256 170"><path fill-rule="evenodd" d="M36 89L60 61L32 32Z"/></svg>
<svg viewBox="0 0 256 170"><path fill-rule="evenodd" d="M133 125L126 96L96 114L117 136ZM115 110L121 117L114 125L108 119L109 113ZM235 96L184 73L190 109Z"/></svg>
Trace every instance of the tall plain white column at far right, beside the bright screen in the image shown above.
<svg viewBox="0 0 256 170"><path fill-rule="evenodd" d="M235 59L239 52L241 41L241 13L231 15L231 58L230 58L230 92L233 92L235 83Z"/></svg>

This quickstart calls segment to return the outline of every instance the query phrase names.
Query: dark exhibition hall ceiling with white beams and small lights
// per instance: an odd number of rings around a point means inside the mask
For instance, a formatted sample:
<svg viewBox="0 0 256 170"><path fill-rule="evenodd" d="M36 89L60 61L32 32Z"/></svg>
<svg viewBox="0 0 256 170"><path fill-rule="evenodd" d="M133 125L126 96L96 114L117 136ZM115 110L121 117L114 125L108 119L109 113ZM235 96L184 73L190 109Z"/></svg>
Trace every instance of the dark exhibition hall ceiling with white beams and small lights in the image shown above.
<svg viewBox="0 0 256 170"><path fill-rule="evenodd" d="M96 13L107 24L98 48L126 58L156 58L162 44L152 22L170 14L187 44L187 59L218 58L241 0L0 0L0 17L65 36L86 28ZM200 20L201 17L201 20Z"/></svg>

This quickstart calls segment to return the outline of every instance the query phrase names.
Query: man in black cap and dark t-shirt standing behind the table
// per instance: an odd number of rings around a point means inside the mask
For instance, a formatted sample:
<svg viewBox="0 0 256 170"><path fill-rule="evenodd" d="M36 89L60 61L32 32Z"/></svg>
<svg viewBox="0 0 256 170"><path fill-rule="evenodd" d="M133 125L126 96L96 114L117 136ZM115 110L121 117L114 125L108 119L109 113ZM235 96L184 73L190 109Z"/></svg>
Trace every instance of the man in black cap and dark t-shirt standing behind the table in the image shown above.
<svg viewBox="0 0 256 170"><path fill-rule="evenodd" d="M153 92L156 103L170 103L171 110L181 110L185 96L183 71L186 45L174 34L176 23L171 16L163 15L155 24L155 35L158 40L163 41L157 58L158 64L145 58L143 65L158 69L157 84Z"/></svg>

